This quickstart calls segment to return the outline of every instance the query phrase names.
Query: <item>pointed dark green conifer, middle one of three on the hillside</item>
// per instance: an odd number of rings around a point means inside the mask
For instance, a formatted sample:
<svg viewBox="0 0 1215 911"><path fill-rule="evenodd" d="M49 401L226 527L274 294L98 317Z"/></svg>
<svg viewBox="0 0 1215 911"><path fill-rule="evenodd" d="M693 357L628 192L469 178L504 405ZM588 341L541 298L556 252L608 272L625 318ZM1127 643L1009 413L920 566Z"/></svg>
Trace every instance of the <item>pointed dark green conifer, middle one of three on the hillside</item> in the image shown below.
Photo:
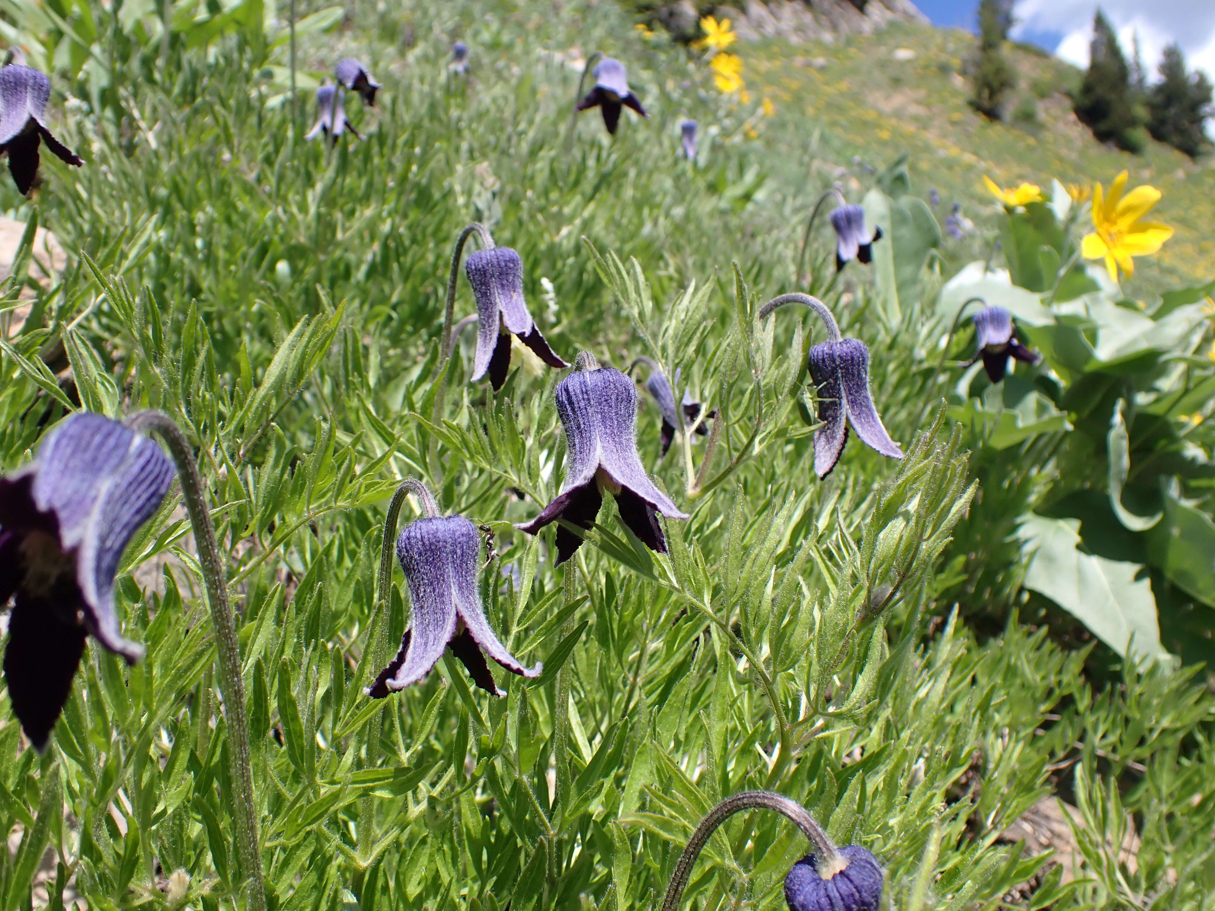
<svg viewBox="0 0 1215 911"><path fill-rule="evenodd" d="M1092 21L1089 69L1076 92L1074 109L1080 123L1101 142L1136 153L1147 145L1146 118L1135 103L1130 67L1118 45L1118 35L1100 9Z"/></svg>

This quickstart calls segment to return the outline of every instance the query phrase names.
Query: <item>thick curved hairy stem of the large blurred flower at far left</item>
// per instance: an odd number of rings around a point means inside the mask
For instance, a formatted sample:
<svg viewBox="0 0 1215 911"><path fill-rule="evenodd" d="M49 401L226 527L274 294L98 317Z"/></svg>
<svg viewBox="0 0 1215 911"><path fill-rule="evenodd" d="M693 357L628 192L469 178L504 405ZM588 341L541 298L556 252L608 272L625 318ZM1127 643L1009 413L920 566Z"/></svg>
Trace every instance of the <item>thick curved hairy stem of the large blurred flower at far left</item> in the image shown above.
<svg viewBox="0 0 1215 911"><path fill-rule="evenodd" d="M219 646L220 686L224 694L224 715L227 719L228 739L232 746L232 786L236 804L233 822L241 866L253 882L249 904L253 911L266 911L266 881L261 871L261 854L258 848L258 811L253 799L253 771L249 765L249 719L244 711L244 680L241 677L241 639L236 618L227 596L227 573L215 541L215 527L207 508L203 480L198 475L194 452L190 440L173 419L156 411L140 412L126 420L136 432L154 431L169 448L177 465L181 493L190 514L190 525L198 545L198 562L203 567L207 600L211 609L211 624Z"/></svg>

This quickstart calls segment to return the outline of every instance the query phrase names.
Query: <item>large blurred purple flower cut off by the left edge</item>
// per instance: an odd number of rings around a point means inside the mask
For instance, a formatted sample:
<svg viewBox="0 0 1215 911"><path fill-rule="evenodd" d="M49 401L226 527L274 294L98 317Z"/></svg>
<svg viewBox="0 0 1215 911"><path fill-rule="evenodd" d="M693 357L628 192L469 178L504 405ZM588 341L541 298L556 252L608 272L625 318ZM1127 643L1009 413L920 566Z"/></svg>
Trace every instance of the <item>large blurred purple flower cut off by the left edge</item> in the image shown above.
<svg viewBox="0 0 1215 911"><path fill-rule="evenodd" d="M26 736L41 751L92 636L128 662L114 576L123 550L173 482L146 436L100 414L74 414L24 468L0 477L0 606L13 598L4 673Z"/></svg>

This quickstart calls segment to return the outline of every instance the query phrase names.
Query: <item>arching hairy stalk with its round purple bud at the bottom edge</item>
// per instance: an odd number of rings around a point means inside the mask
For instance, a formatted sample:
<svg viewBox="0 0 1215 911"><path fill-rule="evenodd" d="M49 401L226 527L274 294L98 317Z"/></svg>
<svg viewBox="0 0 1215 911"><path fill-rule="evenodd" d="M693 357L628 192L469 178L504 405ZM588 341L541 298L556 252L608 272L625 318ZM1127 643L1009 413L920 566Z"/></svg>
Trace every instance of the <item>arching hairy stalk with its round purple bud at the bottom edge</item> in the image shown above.
<svg viewBox="0 0 1215 911"><path fill-rule="evenodd" d="M662 898L662 911L678 910L701 849L718 826L744 810L775 810L801 828L813 847L813 851L785 876L785 901L790 911L877 911L883 879L877 858L859 844L837 848L804 807L773 791L746 791L725 798L710 810L679 855Z"/></svg>

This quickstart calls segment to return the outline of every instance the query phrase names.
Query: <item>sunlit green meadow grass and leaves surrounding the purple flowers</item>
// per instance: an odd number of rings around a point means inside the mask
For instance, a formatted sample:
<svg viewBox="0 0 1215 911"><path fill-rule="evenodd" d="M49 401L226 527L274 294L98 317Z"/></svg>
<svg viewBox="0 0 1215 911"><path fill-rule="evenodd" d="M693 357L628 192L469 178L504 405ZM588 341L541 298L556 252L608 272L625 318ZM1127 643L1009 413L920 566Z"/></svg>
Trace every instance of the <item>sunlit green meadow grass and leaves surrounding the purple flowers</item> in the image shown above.
<svg viewBox="0 0 1215 911"><path fill-rule="evenodd" d="M872 172L841 181L883 237L835 277L825 213L801 261L837 179L806 165L815 143L843 148L837 92L816 86L830 69L774 90L769 114L762 55L742 51L744 101L712 49L648 38L609 2L301 2L293 100L286 4L174 4L168 44L152 2L0 9L86 159L44 154L32 200L0 182L0 208L73 253L50 276L18 256L6 285L0 465L79 408L158 408L186 431L237 611L265 906L656 907L701 817L755 788L874 851L889 907L1215 906L1215 697L1196 664L1215 627L1209 258L1137 259L1131 300L1102 261L1085 268L1092 203L1051 179L1108 189L1113 153L1083 174L993 170L1040 199L988 196L967 210L984 233L951 249L921 198L961 171L909 134L910 160L866 153ZM456 40L467 73L448 67ZM571 117L594 51L626 62L650 113L625 111L611 138L598 112ZM364 138L304 141L344 56L383 84L373 108L346 96ZM765 118L786 118L781 142ZM848 129L864 142L863 120ZM967 192L987 192L978 176ZM1182 193L1165 187L1163 220ZM516 345L501 391L467 383L475 332L443 368L450 258L473 221L520 253L567 361L646 356L717 411L660 459L639 387L643 460L690 514L663 520L668 554L609 503L560 567L552 531L514 528L560 490L563 373ZM1209 249L1176 226L1165 250ZM459 318L474 302L457 288ZM869 345L904 459L853 435L815 476L823 324L798 307L758 319L807 290ZM960 366L973 296L1042 361L1000 385ZM487 617L544 666L492 666L504 698L451 655L363 695L411 616L400 571L377 581L407 477L492 533ZM43 754L0 697L2 907L261 907L176 487L122 570L143 661L90 644ZM1066 864L1006 831L1050 794L1075 808ZM685 906L781 907L806 850L779 816L736 816Z"/></svg>

